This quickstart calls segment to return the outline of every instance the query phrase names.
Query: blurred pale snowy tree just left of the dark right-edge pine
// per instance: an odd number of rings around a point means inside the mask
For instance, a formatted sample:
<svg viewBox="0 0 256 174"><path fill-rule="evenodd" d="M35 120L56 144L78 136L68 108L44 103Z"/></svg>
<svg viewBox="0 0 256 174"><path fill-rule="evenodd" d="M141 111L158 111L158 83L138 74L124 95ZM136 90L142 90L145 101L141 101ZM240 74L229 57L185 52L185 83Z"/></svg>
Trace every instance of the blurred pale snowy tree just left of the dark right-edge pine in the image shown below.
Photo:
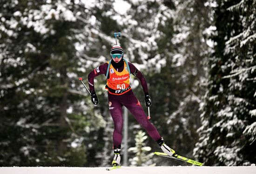
<svg viewBox="0 0 256 174"><path fill-rule="evenodd" d="M207 45L209 7L206 0L176 0L174 18L175 45L172 55L172 79L174 111L168 116L168 133L172 148L180 154L192 155L200 127L200 104L205 92L206 59L210 52ZM168 64L168 66L170 66ZM176 97L178 95L178 97ZM175 98L178 101L175 101ZM168 141L168 140L167 140ZM188 143L189 142L189 143Z"/></svg>

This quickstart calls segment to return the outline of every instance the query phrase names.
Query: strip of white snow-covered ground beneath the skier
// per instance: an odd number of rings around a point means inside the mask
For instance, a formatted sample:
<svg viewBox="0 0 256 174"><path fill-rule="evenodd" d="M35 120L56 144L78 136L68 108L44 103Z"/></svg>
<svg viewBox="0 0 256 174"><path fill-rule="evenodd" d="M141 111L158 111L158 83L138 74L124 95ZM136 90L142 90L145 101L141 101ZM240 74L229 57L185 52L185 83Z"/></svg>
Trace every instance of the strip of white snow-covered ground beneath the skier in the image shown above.
<svg viewBox="0 0 256 174"><path fill-rule="evenodd" d="M0 174L256 174L256 167L121 167L111 171L106 168L2 167Z"/></svg>

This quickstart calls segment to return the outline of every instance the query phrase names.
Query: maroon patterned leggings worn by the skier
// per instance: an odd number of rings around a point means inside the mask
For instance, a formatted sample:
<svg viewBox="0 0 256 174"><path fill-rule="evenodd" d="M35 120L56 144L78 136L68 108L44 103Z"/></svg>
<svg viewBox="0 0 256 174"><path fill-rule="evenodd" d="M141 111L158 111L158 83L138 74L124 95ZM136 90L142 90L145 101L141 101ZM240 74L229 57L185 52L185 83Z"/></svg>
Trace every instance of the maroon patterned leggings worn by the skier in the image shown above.
<svg viewBox="0 0 256 174"><path fill-rule="evenodd" d="M153 138L155 141L161 138L155 126L149 122L143 108L141 107L141 103L134 95L132 90L120 96L108 93L108 105L115 126L113 133L113 145L115 147L121 146L122 142L122 106L125 106L132 113L137 122L139 122L141 126L146 129L151 138Z"/></svg>

